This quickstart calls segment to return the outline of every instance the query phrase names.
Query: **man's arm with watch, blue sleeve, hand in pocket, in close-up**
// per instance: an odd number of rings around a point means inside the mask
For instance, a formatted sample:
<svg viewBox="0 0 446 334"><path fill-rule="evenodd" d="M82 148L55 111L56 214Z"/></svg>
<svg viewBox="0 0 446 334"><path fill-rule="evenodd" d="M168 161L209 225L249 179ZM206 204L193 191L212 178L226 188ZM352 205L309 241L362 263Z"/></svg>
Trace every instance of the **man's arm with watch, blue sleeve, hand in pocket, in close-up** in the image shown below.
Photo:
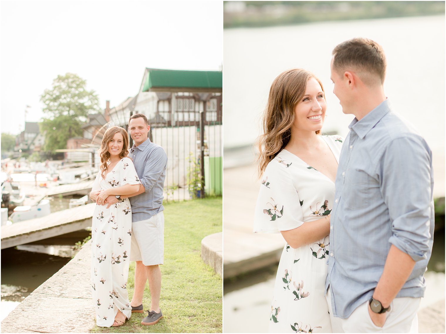
<svg viewBox="0 0 446 334"><path fill-rule="evenodd" d="M412 273L415 263L426 258L430 239L430 151L417 138L392 141L380 161L381 193L392 220L392 244L373 297L387 308ZM369 314L383 326L386 313Z"/></svg>

